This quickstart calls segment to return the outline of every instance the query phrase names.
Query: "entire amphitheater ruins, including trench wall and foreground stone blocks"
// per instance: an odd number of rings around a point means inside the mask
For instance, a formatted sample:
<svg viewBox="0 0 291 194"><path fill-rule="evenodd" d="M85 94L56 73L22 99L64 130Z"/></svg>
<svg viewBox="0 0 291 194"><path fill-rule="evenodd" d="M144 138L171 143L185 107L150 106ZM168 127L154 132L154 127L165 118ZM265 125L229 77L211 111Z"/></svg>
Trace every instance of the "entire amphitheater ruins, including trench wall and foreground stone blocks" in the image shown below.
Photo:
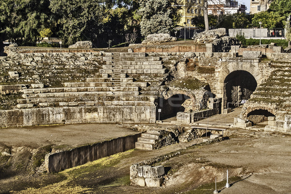
<svg viewBox="0 0 291 194"><path fill-rule="evenodd" d="M275 45L241 47L225 29L202 32L191 44L156 34L118 52L92 49L88 42L4 49L0 128L122 124L135 129L108 141L50 149L38 165L46 172L132 148L189 142L207 136L207 130L213 130L214 143L223 140L226 128L251 130L261 122L260 131L291 133L291 54ZM241 112L233 116L236 107ZM232 115L231 123L209 124L213 115ZM131 184L161 186L164 167L152 165L181 152L130 164Z"/></svg>

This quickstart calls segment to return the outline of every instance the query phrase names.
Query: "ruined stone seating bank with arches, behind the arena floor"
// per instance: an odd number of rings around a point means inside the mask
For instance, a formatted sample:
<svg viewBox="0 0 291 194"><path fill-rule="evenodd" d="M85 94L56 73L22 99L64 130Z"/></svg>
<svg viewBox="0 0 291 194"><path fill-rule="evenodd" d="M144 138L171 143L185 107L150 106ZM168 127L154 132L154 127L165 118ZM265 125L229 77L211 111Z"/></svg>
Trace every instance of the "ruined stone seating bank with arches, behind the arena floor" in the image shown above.
<svg viewBox="0 0 291 194"><path fill-rule="evenodd" d="M133 51L6 48L8 56L0 58L6 75L1 93L22 95L14 109L0 111L0 126L154 123L160 108L164 118L177 115L178 123L191 124L248 100L237 127L248 127L245 119L268 119L266 129L291 131L291 55L281 47L232 46L229 52L216 52L215 45L201 44ZM12 71L19 76L9 76Z"/></svg>

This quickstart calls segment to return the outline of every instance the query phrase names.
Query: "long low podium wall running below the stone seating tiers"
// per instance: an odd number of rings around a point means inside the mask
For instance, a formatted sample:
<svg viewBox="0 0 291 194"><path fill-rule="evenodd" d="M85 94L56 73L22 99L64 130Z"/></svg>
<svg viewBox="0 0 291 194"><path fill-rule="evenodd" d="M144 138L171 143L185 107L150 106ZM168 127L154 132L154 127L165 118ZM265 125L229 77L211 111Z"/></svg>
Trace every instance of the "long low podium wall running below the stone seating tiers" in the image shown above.
<svg viewBox="0 0 291 194"><path fill-rule="evenodd" d="M0 111L0 128L77 123L154 123L156 107L49 107Z"/></svg>

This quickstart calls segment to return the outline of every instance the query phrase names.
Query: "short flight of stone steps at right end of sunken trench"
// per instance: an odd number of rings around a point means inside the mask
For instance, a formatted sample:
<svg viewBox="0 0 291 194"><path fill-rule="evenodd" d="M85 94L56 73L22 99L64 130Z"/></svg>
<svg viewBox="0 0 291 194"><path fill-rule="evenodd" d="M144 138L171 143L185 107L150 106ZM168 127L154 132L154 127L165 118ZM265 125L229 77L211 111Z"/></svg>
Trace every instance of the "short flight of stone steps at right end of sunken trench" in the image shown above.
<svg viewBox="0 0 291 194"><path fill-rule="evenodd" d="M154 145L159 139L160 132L159 130L151 129L147 130L146 133L142 133L141 137L138 138L138 141L135 143L135 148L153 150Z"/></svg>

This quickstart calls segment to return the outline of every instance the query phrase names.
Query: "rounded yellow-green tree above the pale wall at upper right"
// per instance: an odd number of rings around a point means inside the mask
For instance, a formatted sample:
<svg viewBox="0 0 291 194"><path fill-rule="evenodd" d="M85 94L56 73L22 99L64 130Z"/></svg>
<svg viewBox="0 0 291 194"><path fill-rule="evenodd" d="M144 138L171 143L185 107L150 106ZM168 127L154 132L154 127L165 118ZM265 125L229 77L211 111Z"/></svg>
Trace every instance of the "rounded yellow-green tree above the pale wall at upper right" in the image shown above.
<svg viewBox="0 0 291 194"><path fill-rule="evenodd" d="M282 28L283 27L283 17L280 16L277 12L259 12L254 14L252 19L254 27L259 27L259 22L262 22L263 28Z"/></svg>

